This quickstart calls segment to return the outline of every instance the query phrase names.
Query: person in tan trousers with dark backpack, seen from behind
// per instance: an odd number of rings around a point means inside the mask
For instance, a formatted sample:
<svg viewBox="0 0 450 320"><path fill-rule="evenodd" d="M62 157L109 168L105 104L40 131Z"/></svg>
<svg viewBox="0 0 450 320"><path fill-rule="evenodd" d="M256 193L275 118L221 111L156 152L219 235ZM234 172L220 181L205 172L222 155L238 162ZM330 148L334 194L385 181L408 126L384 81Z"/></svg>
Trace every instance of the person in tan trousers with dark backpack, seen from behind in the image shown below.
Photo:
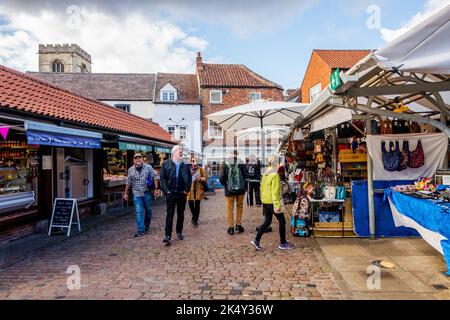
<svg viewBox="0 0 450 320"><path fill-rule="evenodd" d="M242 227L242 214L244 211L244 197L246 192L247 169L244 163L240 163L238 152L226 159L219 174L220 183L225 187L225 199L227 203L228 234L244 232ZM234 219L234 203L236 202L236 220Z"/></svg>

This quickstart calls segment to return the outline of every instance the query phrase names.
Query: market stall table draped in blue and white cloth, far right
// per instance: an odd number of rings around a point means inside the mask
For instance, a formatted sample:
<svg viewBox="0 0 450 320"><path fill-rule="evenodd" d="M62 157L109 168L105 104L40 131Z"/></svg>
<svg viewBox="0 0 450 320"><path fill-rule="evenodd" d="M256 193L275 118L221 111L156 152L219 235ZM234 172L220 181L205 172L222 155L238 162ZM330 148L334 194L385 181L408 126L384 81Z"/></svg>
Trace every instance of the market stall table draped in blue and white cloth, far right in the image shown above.
<svg viewBox="0 0 450 320"><path fill-rule="evenodd" d="M416 229L425 241L444 255L446 274L450 276L450 203L418 199L391 189L386 189L385 196L389 199L396 226Z"/></svg>

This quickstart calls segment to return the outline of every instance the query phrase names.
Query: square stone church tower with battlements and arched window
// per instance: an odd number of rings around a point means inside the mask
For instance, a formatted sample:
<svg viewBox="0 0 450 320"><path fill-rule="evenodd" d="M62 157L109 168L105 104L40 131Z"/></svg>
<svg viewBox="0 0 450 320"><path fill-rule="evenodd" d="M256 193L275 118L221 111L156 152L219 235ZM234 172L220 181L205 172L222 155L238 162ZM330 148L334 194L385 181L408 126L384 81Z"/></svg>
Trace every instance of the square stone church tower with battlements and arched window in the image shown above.
<svg viewBox="0 0 450 320"><path fill-rule="evenodd" d="M91 56L76 44L39 45L39 72L91 72Z"/></svg>

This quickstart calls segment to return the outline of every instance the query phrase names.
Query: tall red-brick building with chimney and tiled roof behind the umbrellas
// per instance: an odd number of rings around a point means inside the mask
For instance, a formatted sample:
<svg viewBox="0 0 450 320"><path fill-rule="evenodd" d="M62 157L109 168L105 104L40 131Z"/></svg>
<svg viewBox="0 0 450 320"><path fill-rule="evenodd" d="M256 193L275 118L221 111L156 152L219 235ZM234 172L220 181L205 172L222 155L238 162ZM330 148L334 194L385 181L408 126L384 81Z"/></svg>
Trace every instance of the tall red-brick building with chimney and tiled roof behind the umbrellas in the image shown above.
<svg viewBox="0 0 450 320"><path fill-rule="evenodd" d="M200 53L197 55L196 75L202 105L204 157L208 162L221 162L230 149L242 149L239 151L245 155L245 150L250 150L249 146L238 148L235 132L224 132L206 116L254 100L284 101L282 87L244 65L204 63Z"/></svg>

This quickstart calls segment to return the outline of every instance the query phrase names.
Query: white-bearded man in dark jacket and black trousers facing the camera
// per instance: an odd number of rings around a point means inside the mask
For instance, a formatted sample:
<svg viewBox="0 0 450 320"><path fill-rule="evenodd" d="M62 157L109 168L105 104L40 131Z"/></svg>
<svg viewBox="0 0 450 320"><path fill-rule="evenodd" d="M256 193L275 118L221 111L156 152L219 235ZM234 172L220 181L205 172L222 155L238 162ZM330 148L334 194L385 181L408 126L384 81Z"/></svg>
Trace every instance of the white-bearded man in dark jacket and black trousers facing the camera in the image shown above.
<svg viewBox="0 0 450 320"><path fill-rule="evenodd" d="M183 147L172 148L172 159L164 161L161 167L160 184L166 196L167 216L165 226L166 245L172 243L172 228L175 208L177 209L176 232L178 240L183 240L184 210L186 208L186 196L191 190L192 174L189 165L183 163Z"/></svg>

